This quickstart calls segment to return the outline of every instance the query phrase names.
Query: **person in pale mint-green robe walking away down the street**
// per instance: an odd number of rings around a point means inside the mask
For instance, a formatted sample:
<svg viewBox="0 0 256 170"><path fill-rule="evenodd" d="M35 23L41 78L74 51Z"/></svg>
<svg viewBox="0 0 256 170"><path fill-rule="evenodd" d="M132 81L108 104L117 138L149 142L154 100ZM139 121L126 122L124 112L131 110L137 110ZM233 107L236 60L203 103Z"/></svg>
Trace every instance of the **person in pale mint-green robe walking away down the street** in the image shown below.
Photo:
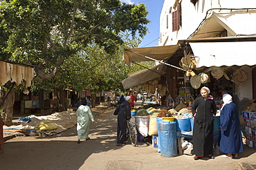
<svg viewBox="0 0 256 170"><path fill-rule="evenodd" d="M77 108L77 143L81 140L89 140L90 121L94 123L93 114L89 106L86 106L86 100L82 100L81 106Z"/></svg>

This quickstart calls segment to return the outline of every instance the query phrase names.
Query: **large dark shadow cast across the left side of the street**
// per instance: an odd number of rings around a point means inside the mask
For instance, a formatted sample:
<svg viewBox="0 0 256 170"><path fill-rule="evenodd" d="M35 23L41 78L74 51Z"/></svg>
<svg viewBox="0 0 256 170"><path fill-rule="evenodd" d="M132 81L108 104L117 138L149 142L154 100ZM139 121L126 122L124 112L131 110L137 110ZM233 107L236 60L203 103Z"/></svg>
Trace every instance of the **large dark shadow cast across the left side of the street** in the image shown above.
<svg viewBox="0 0 256 170"><path fill-rule="evenodd" d="M80 169L94 153L122 149L116 146L116 130L117 117L112 109L95 117L95 123L90 125L91 140L82 140L80 144L77 144L76 126L60 136L6 142L4 153L0 154L1 169ZM149 142L139 142L138 147L149 147Z"/></svg>

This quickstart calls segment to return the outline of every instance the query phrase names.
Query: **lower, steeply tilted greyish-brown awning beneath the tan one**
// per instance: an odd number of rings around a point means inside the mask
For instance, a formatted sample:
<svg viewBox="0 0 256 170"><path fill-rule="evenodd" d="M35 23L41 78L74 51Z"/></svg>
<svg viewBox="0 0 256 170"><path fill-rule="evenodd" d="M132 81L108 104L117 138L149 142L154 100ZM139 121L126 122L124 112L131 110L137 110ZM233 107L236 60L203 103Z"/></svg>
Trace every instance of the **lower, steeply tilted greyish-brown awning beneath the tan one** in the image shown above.
<svg viewBox="0 0 256 170"><path fill-rule="evenodd" d="M161 75L165 75L166 73L166 65L165 64L158 64L150 68L149 70L143 70L136 75L133 75L127 79L122 80L122 86L125 89L137 86L138 84L143 84L145 82L149 82L152 79L156 79Z"/></svg>

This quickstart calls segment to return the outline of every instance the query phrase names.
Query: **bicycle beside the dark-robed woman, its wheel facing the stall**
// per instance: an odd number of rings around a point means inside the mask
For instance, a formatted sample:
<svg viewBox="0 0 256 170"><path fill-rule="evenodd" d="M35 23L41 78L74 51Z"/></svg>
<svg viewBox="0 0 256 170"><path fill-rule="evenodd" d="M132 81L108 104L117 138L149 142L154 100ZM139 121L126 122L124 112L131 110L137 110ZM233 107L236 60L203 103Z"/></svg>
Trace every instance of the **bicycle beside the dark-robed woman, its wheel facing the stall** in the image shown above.
<svg viewBox="0 0 256 170"><path fill-rule="evenodd" d="M131 144L136 147L137 142L138 142L138 131L136 128L136 122L135 122L135 117L131 117L130 120L127 120L127 140L128 138L131 141Z"/></svg>

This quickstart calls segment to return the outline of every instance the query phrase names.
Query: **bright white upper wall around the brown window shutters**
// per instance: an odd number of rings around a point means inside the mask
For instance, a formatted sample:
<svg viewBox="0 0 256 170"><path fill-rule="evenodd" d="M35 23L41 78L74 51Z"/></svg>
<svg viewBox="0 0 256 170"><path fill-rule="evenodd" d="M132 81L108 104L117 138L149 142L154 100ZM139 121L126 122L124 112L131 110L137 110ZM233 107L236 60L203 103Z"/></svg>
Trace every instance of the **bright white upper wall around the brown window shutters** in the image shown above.
<svg viewBox="0 0 256 170"><path fill-rule="evenodd" d="M190 1L181 1L182 26L172 32L172 12L176 0L165 0L160 17L160 37L158 46L174 45L179 39L188 39L196 30L211 8L256 8L255 0L199 0L194 6ZM172 10L170 12L170 10ZM168 15L168 28L167 28Z"/></svg>

